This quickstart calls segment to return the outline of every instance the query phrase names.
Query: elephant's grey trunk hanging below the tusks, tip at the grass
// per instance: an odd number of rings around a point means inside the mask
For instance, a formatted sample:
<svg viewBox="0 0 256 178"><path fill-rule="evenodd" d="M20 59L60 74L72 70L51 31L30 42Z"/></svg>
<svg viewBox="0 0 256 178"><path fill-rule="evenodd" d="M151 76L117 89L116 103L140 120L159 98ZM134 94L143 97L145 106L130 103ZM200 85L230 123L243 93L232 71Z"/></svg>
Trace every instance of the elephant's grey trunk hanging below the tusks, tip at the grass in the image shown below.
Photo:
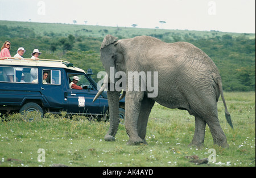
<svg viewBox="0 0 256 178"><path fill-rule="evenodd" d="M108 91L108 102L109 102L109 120L110 128L109 132L105 135L105 141L114 141L115 134L117 134L119 125L119 92Z"/></svg>

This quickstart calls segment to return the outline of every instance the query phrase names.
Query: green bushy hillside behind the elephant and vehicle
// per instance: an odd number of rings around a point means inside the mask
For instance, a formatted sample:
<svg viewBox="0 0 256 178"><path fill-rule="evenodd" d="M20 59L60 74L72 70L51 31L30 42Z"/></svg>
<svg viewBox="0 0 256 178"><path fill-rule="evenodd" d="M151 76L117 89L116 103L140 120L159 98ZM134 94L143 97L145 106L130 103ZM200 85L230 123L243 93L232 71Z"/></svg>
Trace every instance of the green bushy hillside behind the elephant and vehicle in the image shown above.
<svg viewBox="0 0 256 178"><path fill-rule="evenodd" d="M104 70L100 45L104 36L119 39L148 35L167 43L187 41L204 50L220 70L225 91L255 91L255 33L188 31L85 26L0 20L0 44L11 41L11 56L23 46L30 58L38 48L40 58L63 59L94 74ZM94 75L96 79L96 75Z"/></svg>

